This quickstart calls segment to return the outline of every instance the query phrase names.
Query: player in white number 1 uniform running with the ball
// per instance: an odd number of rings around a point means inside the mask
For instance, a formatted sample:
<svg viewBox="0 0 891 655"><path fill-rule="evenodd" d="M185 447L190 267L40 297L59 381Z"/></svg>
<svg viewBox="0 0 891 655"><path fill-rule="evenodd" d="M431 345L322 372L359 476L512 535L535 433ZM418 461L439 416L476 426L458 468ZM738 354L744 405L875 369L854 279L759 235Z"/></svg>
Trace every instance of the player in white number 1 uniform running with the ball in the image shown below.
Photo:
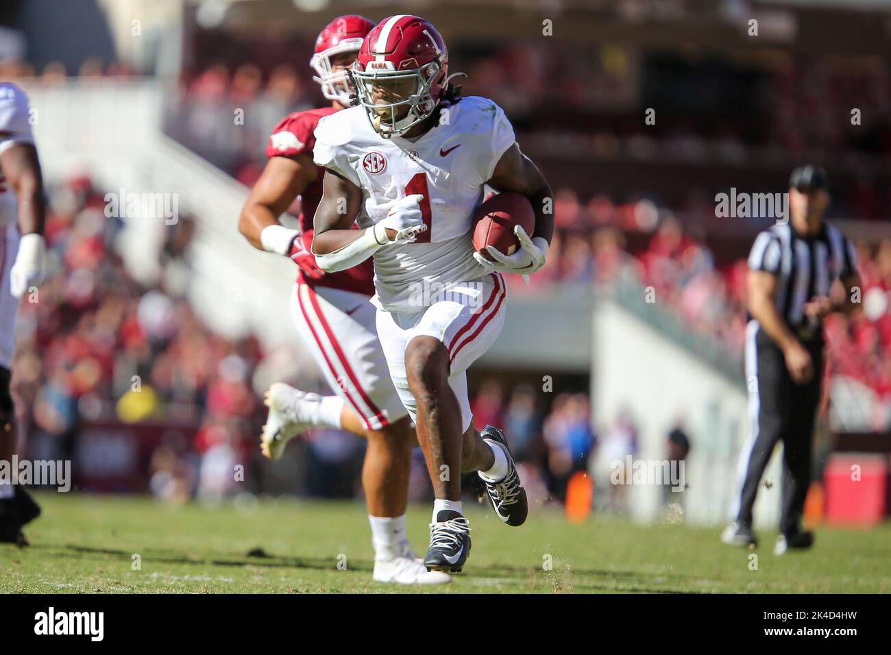
<svg viewBox="0 0 891 655"><path fill-rule="evenodd" d="M544 266L551 187L495 102L460 97L446 43L427 20L382 20L350 75L356 106L315 129L315 163L327 171L311 250L327 273L373 258L378 336L436 495L424 563L459 571L470 552L462 471L478 471L504 522L527 517L502 430L473 430L465 372L503 327L502 273ZM525 195L536 219L531 235L515 228L521 248L507 256L490 247L492 260L474 251L471 234L486 184Z"/></svg>

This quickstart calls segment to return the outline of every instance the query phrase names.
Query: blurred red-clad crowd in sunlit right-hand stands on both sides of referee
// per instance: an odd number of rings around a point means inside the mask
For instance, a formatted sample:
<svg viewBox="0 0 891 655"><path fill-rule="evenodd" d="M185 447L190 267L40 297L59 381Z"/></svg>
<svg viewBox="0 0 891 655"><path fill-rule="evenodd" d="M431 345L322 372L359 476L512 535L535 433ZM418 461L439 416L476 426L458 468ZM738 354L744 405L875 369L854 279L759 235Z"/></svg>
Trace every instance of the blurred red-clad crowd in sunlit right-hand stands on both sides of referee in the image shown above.
<svg viewBox="0 0 891 655"><path fill-rule="evenodd" d="M657 307L671 307L694 332L712 335L731 356L741 356L745 258L719 262L695 225L684 228L670 212L647 201L619 206L601 196L583 207L564 190L555 213L558 229L547 264L529 287L514 284L515 292L570 282L651 287ZM630 237L642 238L645 245L629 248ZM871 389L879 404L871 421L874 429L884 430L891 425L891 240L855 245L862 311L827 320L827 376L844 376Z"/></svg>

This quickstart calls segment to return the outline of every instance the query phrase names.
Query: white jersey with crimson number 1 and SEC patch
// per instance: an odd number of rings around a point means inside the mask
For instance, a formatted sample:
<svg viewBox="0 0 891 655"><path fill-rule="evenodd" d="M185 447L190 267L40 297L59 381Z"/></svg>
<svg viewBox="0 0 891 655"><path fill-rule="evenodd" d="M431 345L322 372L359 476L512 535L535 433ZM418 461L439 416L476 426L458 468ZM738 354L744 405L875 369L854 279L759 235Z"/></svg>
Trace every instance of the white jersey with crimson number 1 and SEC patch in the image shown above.
<svg viewBox="0 0 891 655"><path fill-rule="evenodd" d="M471 224L484 184L514 141L501 107L477 96L443 108L439 125L412 141L380 136L363 107L319 121L315 163L362 189L360 227L386 217L406 195L424 196L427 230L415 242L388 245L374 254L375 305L391 312L418 311L429 304L431 291L447 291L488 273L473 258Z"/></svg>

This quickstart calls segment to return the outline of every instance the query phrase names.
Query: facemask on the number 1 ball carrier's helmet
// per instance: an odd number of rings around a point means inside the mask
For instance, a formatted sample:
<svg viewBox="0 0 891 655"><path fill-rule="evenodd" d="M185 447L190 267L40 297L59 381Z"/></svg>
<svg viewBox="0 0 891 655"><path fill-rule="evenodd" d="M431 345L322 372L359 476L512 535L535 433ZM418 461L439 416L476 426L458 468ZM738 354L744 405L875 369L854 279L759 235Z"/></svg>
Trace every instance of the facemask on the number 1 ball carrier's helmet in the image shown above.
<svg viewBox="0 0 891 655"><path fill-rule="evenodd" d="M372 62L370 67L374 63L377 62ZM351 71L359 103L364 107L374 131L385 139L392 135L404 135L436 110L437 99L433 97L433 89L442 75L442 66L437 61L410 70L364 71L360 68L361 65L356 62ZM380 102L375 99L375 89L378 89L378 95L383 94Z"/></svg>

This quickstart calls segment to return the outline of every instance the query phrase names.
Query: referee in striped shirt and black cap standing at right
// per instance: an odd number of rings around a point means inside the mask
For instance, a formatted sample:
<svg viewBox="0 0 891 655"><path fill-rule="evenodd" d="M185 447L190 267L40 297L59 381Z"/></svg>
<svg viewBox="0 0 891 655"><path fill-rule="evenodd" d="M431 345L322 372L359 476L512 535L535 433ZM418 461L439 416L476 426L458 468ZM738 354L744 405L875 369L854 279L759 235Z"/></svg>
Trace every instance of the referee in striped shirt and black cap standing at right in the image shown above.
<svg viewBox="0 0 891 655"><path fill-rule="evenodd" d="M758 234L748 257L746 381L750 432L737 467L724 544L756 545L752 507L774 446L783 442L780 536L773 552L809 548L801 529L811 481L813 423L823 372L823 317L848 313L859 285L854 248L823 221L826 171L802 166L789 179L789 222Z"/></svg>

